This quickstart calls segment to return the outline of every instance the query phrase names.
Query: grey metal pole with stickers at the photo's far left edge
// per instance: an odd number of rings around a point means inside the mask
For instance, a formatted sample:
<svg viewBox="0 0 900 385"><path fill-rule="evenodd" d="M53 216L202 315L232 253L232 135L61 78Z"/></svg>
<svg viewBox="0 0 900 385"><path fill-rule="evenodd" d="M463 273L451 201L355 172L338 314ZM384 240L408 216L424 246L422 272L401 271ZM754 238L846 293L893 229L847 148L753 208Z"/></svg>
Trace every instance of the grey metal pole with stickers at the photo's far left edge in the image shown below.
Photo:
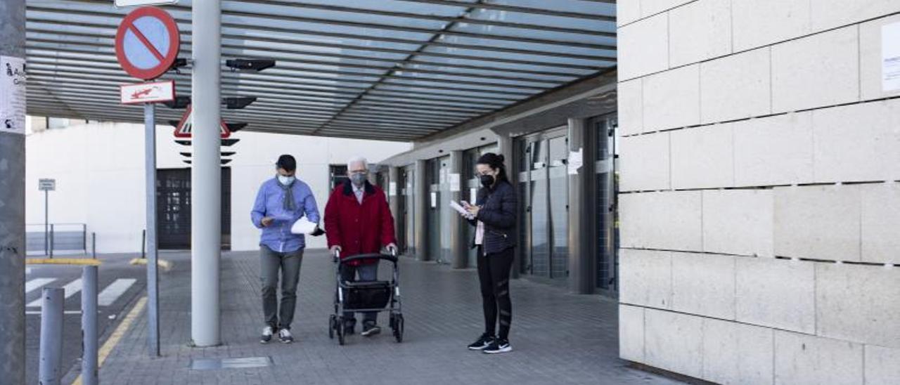
<svg viewBox="0 0 900 385"><path fill-rule="evenodd" d="M0 1L0 56L25 57L25 0ZM0 299L0 384L23 384L25 136L9 132L0 132Z"/></svg>

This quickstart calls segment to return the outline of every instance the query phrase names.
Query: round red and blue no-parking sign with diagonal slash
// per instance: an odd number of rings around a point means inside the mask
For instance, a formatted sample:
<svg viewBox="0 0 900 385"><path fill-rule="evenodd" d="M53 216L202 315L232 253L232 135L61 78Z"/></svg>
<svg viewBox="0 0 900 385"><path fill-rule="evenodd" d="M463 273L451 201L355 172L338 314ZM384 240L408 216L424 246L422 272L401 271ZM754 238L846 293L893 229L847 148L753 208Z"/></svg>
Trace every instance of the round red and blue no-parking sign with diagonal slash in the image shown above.
<svg viewBox="0 0 900 385"><path fill-rule="evenodd" d="M115 55L130 76L151 80L175 63L181 47L178 24L152 6L140 7L122 20L115 35Z"/></svg>

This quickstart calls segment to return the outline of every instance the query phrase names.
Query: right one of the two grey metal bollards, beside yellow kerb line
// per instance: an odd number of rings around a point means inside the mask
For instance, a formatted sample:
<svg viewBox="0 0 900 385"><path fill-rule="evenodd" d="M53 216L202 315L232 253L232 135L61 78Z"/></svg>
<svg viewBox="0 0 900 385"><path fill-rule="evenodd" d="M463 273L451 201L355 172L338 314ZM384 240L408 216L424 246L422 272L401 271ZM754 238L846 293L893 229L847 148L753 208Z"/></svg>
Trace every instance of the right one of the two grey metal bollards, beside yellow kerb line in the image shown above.
<svg viewBox="0 0 900 385"><path fill-rule="evenodd" d="M97 385L97 266L85 266L81 281L81 336L84 352L81 356L81 381Z"/></svg>

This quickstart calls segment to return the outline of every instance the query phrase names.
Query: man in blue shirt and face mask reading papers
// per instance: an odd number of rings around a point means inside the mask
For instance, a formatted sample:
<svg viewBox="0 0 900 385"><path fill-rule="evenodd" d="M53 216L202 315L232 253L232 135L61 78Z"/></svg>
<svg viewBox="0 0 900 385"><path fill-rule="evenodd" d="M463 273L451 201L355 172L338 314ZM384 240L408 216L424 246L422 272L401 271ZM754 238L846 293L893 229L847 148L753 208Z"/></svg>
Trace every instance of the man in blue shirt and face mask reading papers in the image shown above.
<svg viewBox="0 0 900 385"><path fill-rule="evenodd" d="M306 246L303 235L291 233L291 227L304 216L313 223L319 223L320 216L310 186L294 176L296 160L290 155L278 157L275 169L278 174L259 187L250 219L254 226L263 230L259 255L262 259L260 276L266 327L260 342L266 344L271 341L277 330L281 342L289 344L293 342L291 322L297 305L297 282L300 279L303 248ZM282 275L280 307L276 291L279 270Z"/></svg>

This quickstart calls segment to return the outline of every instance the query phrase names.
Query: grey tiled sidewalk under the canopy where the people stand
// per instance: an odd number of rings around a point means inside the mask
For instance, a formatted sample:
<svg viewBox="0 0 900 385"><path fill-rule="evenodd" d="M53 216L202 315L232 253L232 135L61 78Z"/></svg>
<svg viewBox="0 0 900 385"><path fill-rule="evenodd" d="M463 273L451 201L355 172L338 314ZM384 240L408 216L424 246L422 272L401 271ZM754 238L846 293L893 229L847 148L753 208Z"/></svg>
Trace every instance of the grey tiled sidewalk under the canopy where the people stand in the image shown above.
<svg viewBox="0 0 900 385"><path fill-rule="evenodd" d="M526 280L512 282L515 351L489 355L465 345L482 331L481 298L472 270L402 258L405 340L394 342L380 315L380 336L328 336L333 264L323 251L304 257L297 343L260 345L262 325L256 253L222 257L222 340L213 348L190 341L189 255L166 255L175 269L160 282L162 357L146 353L146 323L122 337L101 368L109 384L635 384L675 383L637 371L617 358L616 305ZM388 264L382 264L382 273ZM270 366L193 370L199 359L271 357Z"/></svg>

